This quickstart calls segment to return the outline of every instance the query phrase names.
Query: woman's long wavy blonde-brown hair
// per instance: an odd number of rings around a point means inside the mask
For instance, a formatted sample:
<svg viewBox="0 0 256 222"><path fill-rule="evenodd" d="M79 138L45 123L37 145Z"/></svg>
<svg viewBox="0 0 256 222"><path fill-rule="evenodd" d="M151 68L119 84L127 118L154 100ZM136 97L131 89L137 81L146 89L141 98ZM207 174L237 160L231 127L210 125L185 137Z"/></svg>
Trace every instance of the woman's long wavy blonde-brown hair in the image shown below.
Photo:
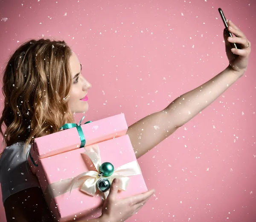
<svg viewBox="0 0 256 222"><path fill-rule="evenodd" d="M33 138L74 122L67 104L71 54L64 41L40 39L23 43L11 55L3 72L0 133L5 146L25 142L27 147Z"/></svg>

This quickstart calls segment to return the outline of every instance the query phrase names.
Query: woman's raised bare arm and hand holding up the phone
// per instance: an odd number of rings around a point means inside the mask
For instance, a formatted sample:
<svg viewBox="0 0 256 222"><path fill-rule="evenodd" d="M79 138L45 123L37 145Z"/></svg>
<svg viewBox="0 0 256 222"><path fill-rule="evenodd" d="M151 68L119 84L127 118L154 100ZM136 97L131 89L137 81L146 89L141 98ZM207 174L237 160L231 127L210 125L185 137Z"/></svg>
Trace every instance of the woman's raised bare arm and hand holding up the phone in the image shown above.
<svg viewBox="0 0 256 222"><path fill-rule="evenodd" d="M162 111L148 115L131 125L127 134L131 139L137 158L195 117L244 74L251 51L250 42L230 20L228 24L229 31L236 36L233 37L233 40L227 40L226 30L224 30L229 66L208 82L175 99ZM229 42L239 43L242 49L231 50Z"/></svg>

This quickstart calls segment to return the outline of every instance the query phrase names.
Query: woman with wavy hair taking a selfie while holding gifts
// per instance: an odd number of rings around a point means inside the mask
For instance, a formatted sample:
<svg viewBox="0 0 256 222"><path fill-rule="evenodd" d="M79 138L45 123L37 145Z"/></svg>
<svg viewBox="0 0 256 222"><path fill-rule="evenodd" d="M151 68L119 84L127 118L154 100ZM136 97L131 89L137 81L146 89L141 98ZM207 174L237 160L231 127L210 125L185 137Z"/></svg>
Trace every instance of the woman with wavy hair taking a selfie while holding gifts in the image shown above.
<svg viewBox="0 0 256 222"><path fill-rule="evenodd" d="M128 128L137 158L145 154L177 128L195 117L230 85L243 76L250 55L250 42L228 21L226 52L230 64L207 83L183 94L163 111L151 114ZM238 43L241 49L231 48ZM9 221L50 221L50 212L34 175L26 171L26 152L32 139L50 133L67 122L72 113L88 109L87 90L91 85L81 75L81 64L64 42L31 40L10 58L3 76L5 104L0 125L6 148L0 159L0 182L6 217ZM155 131L154 125L159 126ZM143 129L143 131L142 131ZM116 199L114 180L102 216L92 222L124 221L137 212L154 190L124 200Z"/></svg>

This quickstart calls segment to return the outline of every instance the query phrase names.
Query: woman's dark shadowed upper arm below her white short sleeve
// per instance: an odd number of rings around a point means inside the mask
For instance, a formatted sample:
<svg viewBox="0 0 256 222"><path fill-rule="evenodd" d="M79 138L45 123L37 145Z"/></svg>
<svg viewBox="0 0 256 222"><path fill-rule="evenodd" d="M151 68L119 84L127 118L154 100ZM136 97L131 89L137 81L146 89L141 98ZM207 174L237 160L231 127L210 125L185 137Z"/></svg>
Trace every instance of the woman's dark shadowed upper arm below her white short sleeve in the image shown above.
<svg viewBox="0 0 256 222"><path fill-rule="evenodd" d="M4 202L7 222L52 222L52 217L38 187L9 196Z"/></svg>

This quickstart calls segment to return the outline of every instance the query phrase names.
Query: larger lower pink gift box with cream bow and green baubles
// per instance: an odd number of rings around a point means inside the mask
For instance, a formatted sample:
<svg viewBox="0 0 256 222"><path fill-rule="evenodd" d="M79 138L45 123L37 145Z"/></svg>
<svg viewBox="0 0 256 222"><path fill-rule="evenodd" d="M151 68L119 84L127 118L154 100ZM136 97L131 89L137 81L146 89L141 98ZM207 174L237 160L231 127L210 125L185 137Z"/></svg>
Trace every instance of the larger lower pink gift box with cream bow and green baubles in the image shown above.
<svg viewBox="0 0 256 222"><path fill-rule="evenodd" d="M96 145L99 147L101 163L111 162L115 169L128 162L137 163L128 135L99 142ZM100 192L96 196L90 196L82 192L81 187L77 187L70 194L70 182L65 185L69 179L72 180L79 174L92 170L91 162L83 155L88 148L90 146L39 160L36 175L56 221L62 222L73 218L92 219L101 215ZM119 198L147 191L142 174L129 176L129 178L126 191L118 191ZM57 191L58 194L51 199L54 195L49 198L49 191Z"/></svg>

